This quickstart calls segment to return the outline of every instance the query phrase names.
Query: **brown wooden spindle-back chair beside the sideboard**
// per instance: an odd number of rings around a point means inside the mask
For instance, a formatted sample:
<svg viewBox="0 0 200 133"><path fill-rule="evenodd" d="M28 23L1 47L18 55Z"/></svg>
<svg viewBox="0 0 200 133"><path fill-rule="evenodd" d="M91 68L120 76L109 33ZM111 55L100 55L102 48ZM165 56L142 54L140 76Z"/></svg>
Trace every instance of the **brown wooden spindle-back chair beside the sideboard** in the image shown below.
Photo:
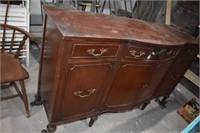
<svg viewBox="0 0 200 133"><path fill-rule="evenodd" d="M1 96L0 100L19 96L25 105L26 117L30 117L30 113L24 80L29 77L29 74L20 64L19 55L28 38L34 40L30 33L21 28L0 24L1 89L13 86L17 92L17 94ZM21 90L17 87L16 81L19 81Z"/></svg>

